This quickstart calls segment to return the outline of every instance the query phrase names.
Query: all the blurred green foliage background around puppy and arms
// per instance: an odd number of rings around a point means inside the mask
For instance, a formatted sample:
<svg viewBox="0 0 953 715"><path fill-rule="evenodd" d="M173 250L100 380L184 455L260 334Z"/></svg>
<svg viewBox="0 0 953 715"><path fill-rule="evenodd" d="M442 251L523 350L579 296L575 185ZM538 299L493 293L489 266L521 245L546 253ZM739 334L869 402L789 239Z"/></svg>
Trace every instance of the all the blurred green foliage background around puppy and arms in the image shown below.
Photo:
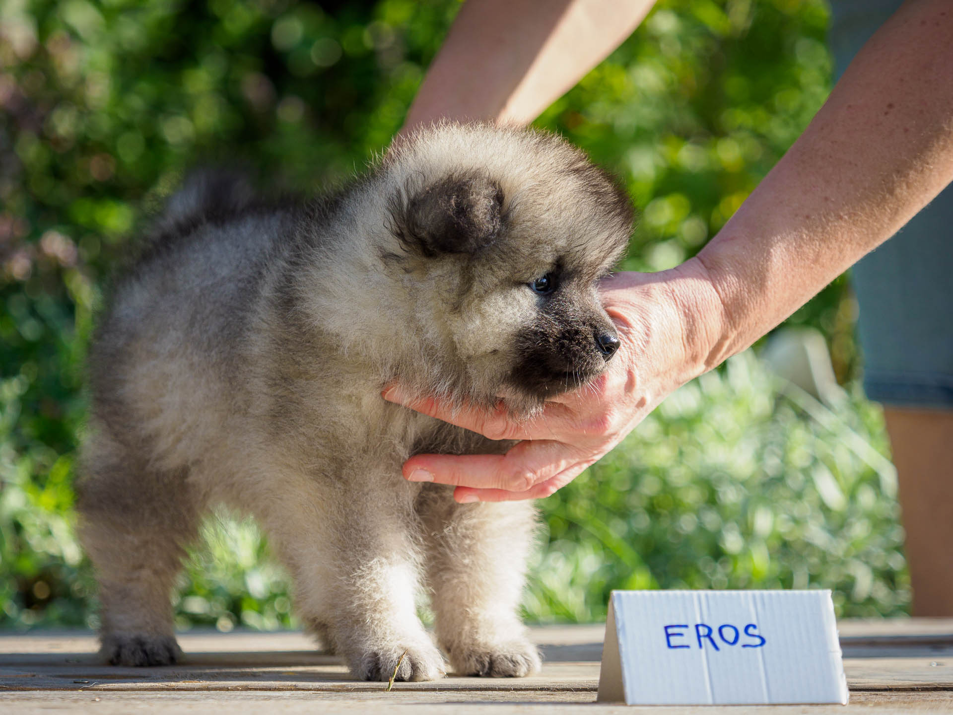
<svg viewBox="0 0 953 715"><path fill-rule="evenodd" d="M125 246L195 163L272 186L353 174L399 128L452 0L7 0L0 6L0 623L94 623L72 536L92 316ZM667 0L538 125L616 171L642 211L625 266L697 252L820 107L821 0ZM855 385L843 278L790 322ZM683 388L542 502L536 620L613 587L824 586L846 615L909 600L878 411L827 412L750 356ZM852 446L853 445L853 448ZM180 625L291 623L253 525L210 522Z"/></svg>

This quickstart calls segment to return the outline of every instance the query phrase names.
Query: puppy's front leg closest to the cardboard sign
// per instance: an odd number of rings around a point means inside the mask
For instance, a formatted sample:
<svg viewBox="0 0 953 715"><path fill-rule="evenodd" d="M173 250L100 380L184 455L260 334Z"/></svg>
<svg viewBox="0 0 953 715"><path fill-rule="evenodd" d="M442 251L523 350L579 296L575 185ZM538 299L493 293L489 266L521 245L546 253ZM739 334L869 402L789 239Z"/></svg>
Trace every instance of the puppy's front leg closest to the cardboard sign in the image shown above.
<svg viewBox="0 0 953 715"><path fill-rule="evenodd" d="M418 500L437 639L459 675L534 673L539 654L518 608L536 511L527 501L457 504L452 494L430 485Z"/></svg>

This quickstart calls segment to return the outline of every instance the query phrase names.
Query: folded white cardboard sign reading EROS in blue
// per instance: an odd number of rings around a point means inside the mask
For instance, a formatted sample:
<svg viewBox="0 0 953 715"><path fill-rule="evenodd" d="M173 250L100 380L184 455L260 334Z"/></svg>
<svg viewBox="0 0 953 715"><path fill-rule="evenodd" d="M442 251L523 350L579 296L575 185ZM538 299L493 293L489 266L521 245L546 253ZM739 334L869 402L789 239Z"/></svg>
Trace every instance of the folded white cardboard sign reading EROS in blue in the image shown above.
<svg viewBox="0 0 953 715"><path fill-rule="evenodd" d="M613 591L598 700L847 703L830 591Z"/></svg>

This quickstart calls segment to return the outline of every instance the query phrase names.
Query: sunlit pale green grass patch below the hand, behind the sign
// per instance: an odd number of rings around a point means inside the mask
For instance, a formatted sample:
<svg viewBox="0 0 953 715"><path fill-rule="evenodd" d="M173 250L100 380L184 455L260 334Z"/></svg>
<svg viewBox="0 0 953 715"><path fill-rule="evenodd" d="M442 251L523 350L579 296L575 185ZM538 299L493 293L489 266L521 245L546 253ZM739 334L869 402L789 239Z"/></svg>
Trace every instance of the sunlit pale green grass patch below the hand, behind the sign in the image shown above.
<svg viewBox="0 0 953 715"><path fill-rule="evenodd" d="M880 411L830 411L751 351L690 382L586 474L542 501L548 548L527 611L601 620L612 588L834 590L838 612L909 601L896 471Z"/></svg>

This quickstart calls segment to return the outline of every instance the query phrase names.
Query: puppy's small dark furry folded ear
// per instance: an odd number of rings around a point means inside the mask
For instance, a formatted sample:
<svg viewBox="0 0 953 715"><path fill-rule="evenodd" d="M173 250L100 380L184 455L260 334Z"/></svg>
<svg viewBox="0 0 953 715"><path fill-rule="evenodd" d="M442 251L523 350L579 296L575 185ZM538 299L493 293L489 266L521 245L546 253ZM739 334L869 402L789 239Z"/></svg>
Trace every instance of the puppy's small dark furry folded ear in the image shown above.
<svg viewBox="0 0 953 715"><path fill-rule="evenodd" d="M474 254L503 229L503 190L478 174L450 175L392 204L392 229L424 255Z"/></svg>

